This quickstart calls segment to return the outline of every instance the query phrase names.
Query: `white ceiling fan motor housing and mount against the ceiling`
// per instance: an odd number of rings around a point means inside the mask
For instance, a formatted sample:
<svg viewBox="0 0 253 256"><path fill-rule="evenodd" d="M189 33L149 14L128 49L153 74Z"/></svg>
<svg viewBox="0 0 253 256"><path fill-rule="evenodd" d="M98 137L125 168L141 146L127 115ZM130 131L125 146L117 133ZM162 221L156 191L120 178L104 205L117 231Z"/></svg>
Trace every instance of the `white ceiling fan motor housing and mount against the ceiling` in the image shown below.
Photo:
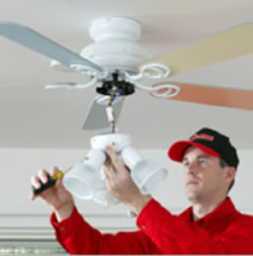
<svg viewBox="0 0 253 256"><path fill-rule="evenodd" d="M108 16L94 20L89 27L94 43L82 49L83 58L96 63L104 70L116 68L139 73L140 63L151 54L137 41L142 25L137 20L121 16Z"/></svg>

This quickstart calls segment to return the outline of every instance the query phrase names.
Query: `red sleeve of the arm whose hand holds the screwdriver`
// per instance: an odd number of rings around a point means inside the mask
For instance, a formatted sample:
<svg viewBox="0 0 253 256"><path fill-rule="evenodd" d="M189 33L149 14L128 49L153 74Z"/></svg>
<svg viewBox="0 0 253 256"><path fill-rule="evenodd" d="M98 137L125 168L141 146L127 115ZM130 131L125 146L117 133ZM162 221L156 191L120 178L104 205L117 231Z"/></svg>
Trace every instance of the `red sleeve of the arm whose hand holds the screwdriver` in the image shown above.
<svg viewBox="0 0 253 256"><path fill-rule="evenodd" d="M57 222L51 215L56 239L71 254L157 254L156 246L142 231L101 234L77 211Z"/></svg>

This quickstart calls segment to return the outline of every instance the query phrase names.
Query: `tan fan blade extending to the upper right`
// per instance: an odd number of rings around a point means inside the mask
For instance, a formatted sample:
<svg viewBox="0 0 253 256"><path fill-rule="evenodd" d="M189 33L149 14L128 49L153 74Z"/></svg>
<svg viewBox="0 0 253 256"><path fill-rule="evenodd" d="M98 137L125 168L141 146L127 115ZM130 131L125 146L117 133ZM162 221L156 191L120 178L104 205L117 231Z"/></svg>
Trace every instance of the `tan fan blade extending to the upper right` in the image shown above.
<svg viewBox="0 0 253 256"><path fill-rule="evenodd" d="M249 53L253 53L253 23L233 27L186 48L164 54L152 60L152 63L167 65L172 70L171 75L178 75Z"/></svg>

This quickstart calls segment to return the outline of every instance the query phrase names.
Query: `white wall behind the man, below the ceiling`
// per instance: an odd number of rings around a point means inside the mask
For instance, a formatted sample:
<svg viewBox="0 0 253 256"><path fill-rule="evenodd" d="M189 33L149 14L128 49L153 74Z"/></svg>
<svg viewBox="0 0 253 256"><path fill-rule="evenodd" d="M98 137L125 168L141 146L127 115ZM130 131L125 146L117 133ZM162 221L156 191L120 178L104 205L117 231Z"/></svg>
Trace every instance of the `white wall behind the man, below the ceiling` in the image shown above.
<svg viewBox="0 0 253 256"><path fill-rule="evenodd" d="M161 163L169 170L169 176L163 186L154 195L172 212L180 212L188 202L183 194L182 167L166 157L166 150L140 150L142 155ZM38 232L40 236L52 236L49 225L51 209L40 200L30 201L30 176L40 168L50 169L58 165L62 170L82 160L87 150L52 149L1 149L0 150L0 238L13 238L10 227L22 227L20 232ZM243 212L253 214L253 171L251 160L253 151L239 151L241 163L237 181L231 196L237 207ZM132 229L135 220L126 215L123 206L104 208L93 202L77 200L78 207L87 219L102 231ZM5 228L6 227L6 228ZM36 231L31 231L37 227ZM118 227L118 228L117 228ZM5 229L4 229L5 228ZM32 233L31 233L32 234ZM38 234L38 236L39 236ZM32 235L34 237L34 234Z"/></svg>

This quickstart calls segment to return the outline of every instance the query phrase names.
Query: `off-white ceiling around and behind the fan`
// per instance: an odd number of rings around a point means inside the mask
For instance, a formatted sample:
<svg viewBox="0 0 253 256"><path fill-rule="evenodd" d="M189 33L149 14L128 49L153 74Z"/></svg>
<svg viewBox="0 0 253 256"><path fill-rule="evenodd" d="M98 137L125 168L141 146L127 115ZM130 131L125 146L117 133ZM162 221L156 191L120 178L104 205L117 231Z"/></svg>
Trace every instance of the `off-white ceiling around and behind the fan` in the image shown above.
<svg viewBox="0 0 253 256"><path fill-rule="evenodd" d="M252 0L1 0L1 20L18 22L80 52L90 44L90 21L125 15L143 25L141 43L153 56L253 22ZM224 46L226 47L226 46ZM0 37L0 147L89 148L81 130L95 89L46 91L45 84L78 82L76 74L49 67L50 60ZM253 89L253 53L173 80ZM16 87L21 86L21 87ZM23 87L22 87L23 86ZM241 149L253 149L253 112L154 99L144 92L125 100L118 127L139 148L166 148L209 126L230 135Z"/></svg>

